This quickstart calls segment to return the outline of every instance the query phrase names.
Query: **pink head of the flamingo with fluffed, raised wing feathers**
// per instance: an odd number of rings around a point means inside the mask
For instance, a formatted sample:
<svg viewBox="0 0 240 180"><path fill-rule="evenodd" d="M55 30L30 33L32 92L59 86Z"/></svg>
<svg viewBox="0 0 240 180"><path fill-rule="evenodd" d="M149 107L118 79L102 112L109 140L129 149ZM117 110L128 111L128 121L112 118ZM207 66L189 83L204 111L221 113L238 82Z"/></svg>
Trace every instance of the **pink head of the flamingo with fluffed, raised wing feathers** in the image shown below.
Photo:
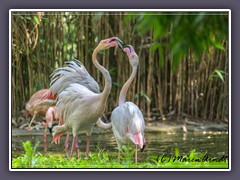
<svg viewBox="0 0 240 180"><path fill-rule="evenodd" d="M111 37L108 39L101 40L98 44L98 50L109 49L110 47L120 47L123 48L123 42L118 37Z"/></svg>

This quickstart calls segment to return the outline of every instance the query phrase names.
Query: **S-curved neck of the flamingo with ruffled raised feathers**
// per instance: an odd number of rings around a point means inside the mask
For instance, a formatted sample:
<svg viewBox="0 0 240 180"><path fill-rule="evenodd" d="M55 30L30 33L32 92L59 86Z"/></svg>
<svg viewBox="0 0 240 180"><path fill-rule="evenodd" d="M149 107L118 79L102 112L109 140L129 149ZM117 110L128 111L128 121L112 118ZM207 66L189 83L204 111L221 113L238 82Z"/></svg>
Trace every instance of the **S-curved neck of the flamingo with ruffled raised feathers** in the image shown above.
<svg viewBox="0 0 240 180"><path fill-rule="evenodd" d="M102 97L103 97L103 101L106 102L107 98L110 94L111 88L112 88L112 79L111 76L109 75L109 72L107 69L105 69L103 66L101 66L98 61L97 61L97 53L98 53L98 48L94 49L93 54L92 54L92 61L93 64L95 65L96 68L99 69L99 71L101 71L101 73L104 76L104 80L105 80L105 86L104 89L102 91Z"/></svg>

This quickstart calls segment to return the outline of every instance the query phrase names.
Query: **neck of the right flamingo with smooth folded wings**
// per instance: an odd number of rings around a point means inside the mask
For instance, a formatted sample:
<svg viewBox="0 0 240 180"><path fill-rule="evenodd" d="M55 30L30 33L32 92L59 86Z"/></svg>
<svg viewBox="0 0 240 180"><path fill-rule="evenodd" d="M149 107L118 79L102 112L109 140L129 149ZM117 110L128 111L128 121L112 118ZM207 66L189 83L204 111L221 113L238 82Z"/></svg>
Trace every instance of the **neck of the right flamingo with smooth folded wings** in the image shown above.
<svg viewBox="0 0 240 180"><path fill-rule="evenodd" d="M119 99L118 99L118 105L121 105L121 104L126 102L126 96L127 96L128 88L131 85L131 83L133 82L133 79L135 78L135 76L137 74L137 66L134 66L132 68L133 68L133 70L132 70L131 76L129 77L127 82L125 82L125 84L123 85L123 87L120 91L120 95L119 95Z"/></svg>

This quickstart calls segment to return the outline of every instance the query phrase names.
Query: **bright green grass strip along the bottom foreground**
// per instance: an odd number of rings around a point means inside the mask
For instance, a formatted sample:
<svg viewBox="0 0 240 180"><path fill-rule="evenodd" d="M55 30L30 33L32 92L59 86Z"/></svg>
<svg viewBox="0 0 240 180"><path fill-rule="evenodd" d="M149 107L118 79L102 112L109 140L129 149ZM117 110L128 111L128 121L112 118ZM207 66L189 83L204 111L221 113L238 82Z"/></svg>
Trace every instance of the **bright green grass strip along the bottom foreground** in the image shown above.
<svg viewBox="0 0 240 180"><path fill-rule="evenodd" d="M12 159L12 168L228 168L228 161L199 162L205 154L190 151L188 155L180 155L175 148L175 156L169 161L162 160L163 156L152 156L148 162L135 164L130 145L123 146L121 161L115 155L109 155L103 149L97 148L97 153L89 153L89 158L63 158L61 155L45 155L36 153L38 143L32 147L29 141L23 143L25 154ZM184 161L188 159L188 161Z"/></svg>

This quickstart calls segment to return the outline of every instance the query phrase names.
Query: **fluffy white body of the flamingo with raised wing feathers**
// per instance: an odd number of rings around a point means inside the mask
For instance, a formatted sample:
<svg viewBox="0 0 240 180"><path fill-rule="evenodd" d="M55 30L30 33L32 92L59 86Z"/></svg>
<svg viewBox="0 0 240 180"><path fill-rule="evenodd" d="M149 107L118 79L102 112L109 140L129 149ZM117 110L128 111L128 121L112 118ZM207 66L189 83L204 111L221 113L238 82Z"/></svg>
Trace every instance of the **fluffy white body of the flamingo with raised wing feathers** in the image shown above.
<svg viewBox="0 0 240 180"><path fill-rule="evenodd" d="M71 84L58 96L58 114L63 117L63 125L54 134L72 131L73 136L78 132L91 135L93 125L102 115L104 107L99 102L99 94L93 93L85 86ZM91 113L86 113L86 112Z"/></svg>

